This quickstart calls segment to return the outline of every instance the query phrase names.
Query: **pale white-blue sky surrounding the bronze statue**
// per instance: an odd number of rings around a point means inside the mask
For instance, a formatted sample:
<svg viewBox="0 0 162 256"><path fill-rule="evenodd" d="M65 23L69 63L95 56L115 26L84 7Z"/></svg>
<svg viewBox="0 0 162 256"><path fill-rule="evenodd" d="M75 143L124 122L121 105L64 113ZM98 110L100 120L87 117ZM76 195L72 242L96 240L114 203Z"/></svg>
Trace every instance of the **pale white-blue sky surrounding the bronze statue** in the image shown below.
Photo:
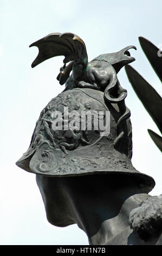
<svg viewBox="0 0 162 256"><path fill-rule="evenodd" d="M31 69L38 50L29 45L49 33L72 32L85 41L89 60L135 45L132 66L161 95L161 83L138 41L144 36L155 45L162 43L161 9L161 0L0 0L1 245L88 245L86 234L76 225L57 228L47 222L35 174L15 165L28 149L41 110L63 89L56 80L63 57ZM132 163L153 176L156 185L150 194L161 194L161 153L147 129L160 132L124 69L118 77L128 91L126 104L132 113Z"/></svg>

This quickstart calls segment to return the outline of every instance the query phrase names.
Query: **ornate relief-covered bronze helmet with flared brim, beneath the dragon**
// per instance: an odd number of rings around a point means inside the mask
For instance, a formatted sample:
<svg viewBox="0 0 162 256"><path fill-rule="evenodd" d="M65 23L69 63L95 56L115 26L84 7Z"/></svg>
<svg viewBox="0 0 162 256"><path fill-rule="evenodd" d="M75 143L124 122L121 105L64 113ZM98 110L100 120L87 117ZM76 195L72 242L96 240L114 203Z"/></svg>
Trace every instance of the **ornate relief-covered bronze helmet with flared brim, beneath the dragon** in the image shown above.
<svg viewBox="0 0 162 256"><path fill-rule="evenodd" d="M68 109L68 119L66 111ZM106 128L96 130L92 121L103 113ZM74 114L77 113L77 120ZM82 113L93 113L92 129L81 129ZM106 113L109 113L106 115ZM105 102L103 92L74 88L57 95L42 110L31 138L30 147L16 162L17 166L35 174L53 177L90 174L125 174L139 179L145 192L155 185L153 178L138 172L131 162L132 126L117 104ZM88 115L86 118L89 118ZM106 119L108 123L106 125ZM99 115L97 120L99 120ZM63 121L63 129L59 121ZM68 126L70 125L70 126ZM67 129L67 126L69 127ZM118 141L118 143L115 143Z"/></svg>

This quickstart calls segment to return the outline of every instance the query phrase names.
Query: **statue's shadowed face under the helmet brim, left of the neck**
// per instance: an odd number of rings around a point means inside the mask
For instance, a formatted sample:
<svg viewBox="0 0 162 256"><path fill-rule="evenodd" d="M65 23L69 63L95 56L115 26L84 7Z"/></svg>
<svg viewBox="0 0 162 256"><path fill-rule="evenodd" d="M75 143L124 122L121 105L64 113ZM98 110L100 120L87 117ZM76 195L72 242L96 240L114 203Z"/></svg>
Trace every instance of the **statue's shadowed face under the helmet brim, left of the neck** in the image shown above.
<svg viewBox="0 0 162 256"><path fill-rule="evenodd" d="M36 175L49 223L58 227L74 224L74 211L68 198L63 178Z"/></svg>

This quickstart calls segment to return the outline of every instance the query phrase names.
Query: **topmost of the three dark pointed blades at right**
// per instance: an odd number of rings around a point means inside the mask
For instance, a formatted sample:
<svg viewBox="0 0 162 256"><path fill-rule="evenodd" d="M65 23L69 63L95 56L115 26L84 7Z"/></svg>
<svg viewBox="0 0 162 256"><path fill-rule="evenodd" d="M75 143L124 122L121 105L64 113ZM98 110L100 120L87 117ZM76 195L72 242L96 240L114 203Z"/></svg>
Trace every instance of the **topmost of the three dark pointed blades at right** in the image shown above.
<svg viewBox="0 0 162 256"><path fill-rule="evenodd" d="M162 82L162 54L159 48L157 48L155 45L152 44L152 42L148 41L145 38L142 38L141 36L139 37L139 41L142 50L144 51L147 59L152 65L152 68Z"/></svg>

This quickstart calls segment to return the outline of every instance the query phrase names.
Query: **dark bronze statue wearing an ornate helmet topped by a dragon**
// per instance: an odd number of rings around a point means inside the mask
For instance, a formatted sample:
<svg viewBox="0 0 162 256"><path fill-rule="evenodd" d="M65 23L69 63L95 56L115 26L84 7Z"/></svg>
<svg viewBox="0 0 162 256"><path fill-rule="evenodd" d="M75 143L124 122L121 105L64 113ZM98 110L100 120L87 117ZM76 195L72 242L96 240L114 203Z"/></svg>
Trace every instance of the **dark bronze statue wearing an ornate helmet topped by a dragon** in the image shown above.
<svg viewBox="0 0 162 256"><path fill-rule="evenodd" d="M90 245L162 244L161 197L148 195L153 178L132 166L131 113L117 78L135 60L128 52L135 46L91 62L72 33L49 34L30 46L39 48L32 67L65 57L57 80L66 88L42 110L29 149L16 163L36 174L48 221L77 223Z"/></svg>

